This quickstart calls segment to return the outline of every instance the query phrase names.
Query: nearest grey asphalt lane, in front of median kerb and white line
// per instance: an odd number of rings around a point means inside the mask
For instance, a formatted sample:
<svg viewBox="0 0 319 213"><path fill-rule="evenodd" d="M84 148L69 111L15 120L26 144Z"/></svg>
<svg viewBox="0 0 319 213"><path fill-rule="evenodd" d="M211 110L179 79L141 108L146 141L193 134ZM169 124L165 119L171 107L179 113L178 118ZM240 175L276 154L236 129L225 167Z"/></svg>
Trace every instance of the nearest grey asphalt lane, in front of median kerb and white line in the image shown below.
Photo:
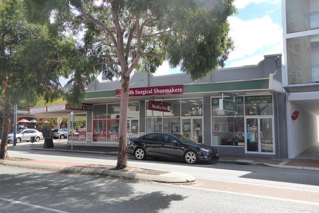
<svg viewBox="0 0 319 213"><path fill-rule="evenodd" d="M319 205L211 191L0 166L0 212L319 212Z"/></svg>

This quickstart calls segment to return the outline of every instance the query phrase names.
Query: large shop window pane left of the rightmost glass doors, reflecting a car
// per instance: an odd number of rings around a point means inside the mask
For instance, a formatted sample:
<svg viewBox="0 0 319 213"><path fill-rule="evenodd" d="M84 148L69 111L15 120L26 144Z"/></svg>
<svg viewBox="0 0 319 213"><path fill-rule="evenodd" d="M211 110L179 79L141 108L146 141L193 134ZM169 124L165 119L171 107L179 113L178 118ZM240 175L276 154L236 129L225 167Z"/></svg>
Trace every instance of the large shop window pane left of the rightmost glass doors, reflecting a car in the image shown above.
<svg viewBox="0 0 319 213"><path fill-rule="evenodd" d="M212 138L215 146L245 146L244 117L213 117Z"/></svg>

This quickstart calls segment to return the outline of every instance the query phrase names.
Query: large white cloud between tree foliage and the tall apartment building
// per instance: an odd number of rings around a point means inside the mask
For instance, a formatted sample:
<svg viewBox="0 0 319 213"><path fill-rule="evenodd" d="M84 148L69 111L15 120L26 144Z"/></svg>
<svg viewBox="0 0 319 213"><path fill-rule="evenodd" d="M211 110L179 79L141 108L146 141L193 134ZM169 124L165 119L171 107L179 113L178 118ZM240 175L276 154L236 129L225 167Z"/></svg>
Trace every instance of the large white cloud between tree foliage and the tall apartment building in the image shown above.
<svg viewBox="0 0 319 213"><path fill-rule="evenodd" d="M230 36L235 49L230 53L229 60L253 55L264 47L282 45L282 27L274 23L269 15L262 18L244 21L238 17L228 17Z"/></svg>

